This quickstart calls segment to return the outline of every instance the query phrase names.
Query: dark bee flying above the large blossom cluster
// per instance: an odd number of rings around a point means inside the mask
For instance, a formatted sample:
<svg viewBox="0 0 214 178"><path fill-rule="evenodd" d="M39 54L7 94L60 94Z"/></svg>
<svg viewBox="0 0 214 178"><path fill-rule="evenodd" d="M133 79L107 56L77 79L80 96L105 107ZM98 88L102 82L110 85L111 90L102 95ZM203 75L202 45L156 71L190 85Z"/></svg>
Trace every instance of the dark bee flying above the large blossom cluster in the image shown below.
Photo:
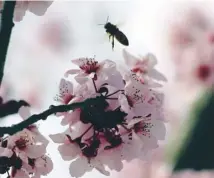
<svg viewBox="0 0 214 178"><path fill-rule="evenodd" d="M110 22L108 22L108 18L107 18L106 24L99 24L99 25L104 25L104 28L106 29L106 33L109 34L109 40L111 40L112 38L112 42L111 42L112 50L114 50L114 38L116 38L117 41L119 41L121 44L128 46L129 41L126 35L123 32L121 32L116 25L113 25Z"/></svg>

